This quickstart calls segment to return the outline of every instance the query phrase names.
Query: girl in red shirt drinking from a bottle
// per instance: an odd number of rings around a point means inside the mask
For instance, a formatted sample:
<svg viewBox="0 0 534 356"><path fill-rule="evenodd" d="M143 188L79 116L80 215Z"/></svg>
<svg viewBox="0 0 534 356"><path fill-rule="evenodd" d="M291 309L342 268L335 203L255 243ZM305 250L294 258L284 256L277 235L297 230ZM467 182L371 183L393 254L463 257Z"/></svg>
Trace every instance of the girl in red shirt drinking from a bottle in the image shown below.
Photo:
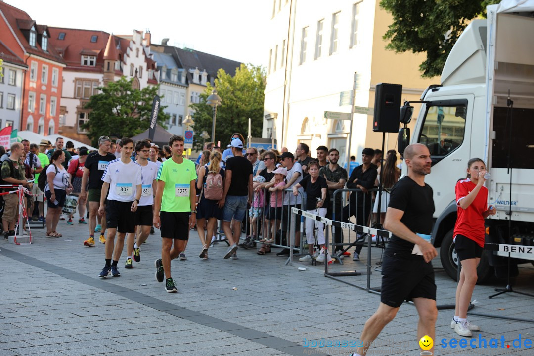
<svg viewBox="0 0 534 356"><path fill-rule="evenodd" d="M486 166L480 158L467 162L467 178L456 184L458 218L454 226L454 249L462 264L460 280L456 289L456 310L451 328L460 336L473 336L472 331L480 327L467 321L467 307L475 289L476 266L480 262L484 247L484 219L495 215L496 210L488 208L488 189L484 187Z"/></svg>

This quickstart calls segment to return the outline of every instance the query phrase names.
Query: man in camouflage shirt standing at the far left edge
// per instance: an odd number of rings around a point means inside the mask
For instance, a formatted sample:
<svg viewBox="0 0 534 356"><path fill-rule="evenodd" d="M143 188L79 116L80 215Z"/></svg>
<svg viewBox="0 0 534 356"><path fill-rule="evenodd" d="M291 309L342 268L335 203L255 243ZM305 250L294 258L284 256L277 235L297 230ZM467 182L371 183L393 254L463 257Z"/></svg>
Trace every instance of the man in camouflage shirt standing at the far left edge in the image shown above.
<svg viewBox="0 0 534 356"><path fill-rule="evenodd" d="M2 163L2 179L5 184L22 185L28 187L30 184L26 180L24 164L20 162L20 157L24 155L21 143L11 145L11 156ZM16 191L17 188L4 188L4 192ZM15 223L19 217L19 197L17 193L4 195L4 215L2 223L4 225L4 239L15 235Z"/></svg>

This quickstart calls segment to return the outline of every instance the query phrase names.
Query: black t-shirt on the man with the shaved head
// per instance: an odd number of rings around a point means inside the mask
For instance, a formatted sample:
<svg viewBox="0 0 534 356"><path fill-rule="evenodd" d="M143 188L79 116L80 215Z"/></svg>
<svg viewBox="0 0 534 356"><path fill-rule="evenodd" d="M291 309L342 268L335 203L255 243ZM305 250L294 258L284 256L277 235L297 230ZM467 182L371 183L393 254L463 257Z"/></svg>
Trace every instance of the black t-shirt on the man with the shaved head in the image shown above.
<svg viewBox="0 0 534 356"><path fill-rule="evenodd" d="M404 211L400 222L413 233L431 234L434 200L432 188L428 184L425 183L425 186L421 187L412 178L405 176L391 190L388 207ZM392 235L386 251L396 252L403 257L422 259L422 256L412 254L413 247L413 243Z"/></svg>

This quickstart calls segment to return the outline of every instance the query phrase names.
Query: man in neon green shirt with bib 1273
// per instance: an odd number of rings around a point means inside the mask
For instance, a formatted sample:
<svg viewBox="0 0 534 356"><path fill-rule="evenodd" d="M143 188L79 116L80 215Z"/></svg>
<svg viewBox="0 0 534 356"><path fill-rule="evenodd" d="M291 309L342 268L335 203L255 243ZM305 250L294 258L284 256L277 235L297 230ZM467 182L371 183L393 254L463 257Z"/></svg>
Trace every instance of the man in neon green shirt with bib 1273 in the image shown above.
<svg viewBox="0 0 534 356"><path fill-rule="evenodd" d="M176 282L170 274L170 261L185 249L189 230L197 223L197 171L194 162L184 160L182 156L183 137L172 136L169 146L172 157L161 164L156 178L158 188L154 200L153 223L161 231L162 248L161 258L155 260L155 266L156 280L163 282L163 277L166 276L165 290L176 292Z"/></svg>

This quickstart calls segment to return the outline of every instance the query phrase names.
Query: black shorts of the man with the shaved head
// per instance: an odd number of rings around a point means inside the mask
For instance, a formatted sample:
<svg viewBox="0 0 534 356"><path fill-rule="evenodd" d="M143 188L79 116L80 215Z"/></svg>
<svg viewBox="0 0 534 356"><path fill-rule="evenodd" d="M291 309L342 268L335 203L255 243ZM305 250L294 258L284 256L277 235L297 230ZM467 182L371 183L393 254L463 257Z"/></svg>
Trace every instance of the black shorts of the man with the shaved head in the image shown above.
<svg viewBox="0 0 534 356"><path fill-rule="evenodd" d="M384 255L380 301L399 307L404 300L427 298L436 300L434 270L430 262L419 259Z"/></svg>

